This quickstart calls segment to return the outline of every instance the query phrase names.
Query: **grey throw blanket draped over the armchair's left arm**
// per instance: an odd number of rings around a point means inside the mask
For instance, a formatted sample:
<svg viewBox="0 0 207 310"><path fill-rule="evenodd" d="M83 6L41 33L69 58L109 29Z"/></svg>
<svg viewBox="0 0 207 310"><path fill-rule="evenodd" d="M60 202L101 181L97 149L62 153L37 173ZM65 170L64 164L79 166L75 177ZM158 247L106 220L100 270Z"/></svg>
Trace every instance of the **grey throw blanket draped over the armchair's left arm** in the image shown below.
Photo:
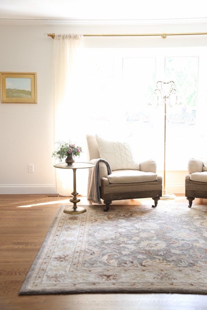
<svg viewBox="0 0 207 310"><path fill-rule="evenodd" d="M89 169L88 171L88 189L87 189L87 199L98 203L101 205L101 193L99 187L99 162L105 162L108 174L111 174L111 167L110 164L102 158L92 159L90 161L92 164L95 164L93 169Z"/></svg>

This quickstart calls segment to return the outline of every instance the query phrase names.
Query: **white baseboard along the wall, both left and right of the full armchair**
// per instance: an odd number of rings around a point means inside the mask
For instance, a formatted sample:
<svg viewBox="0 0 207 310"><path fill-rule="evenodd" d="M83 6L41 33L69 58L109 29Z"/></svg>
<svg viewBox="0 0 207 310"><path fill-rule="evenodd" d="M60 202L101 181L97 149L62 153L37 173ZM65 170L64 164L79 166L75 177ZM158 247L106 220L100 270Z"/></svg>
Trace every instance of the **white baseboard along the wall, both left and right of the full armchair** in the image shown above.
<svg viewBox="0 0 207 310"><path fill-rule="evenodd" d="M184 184L167 184L168 193L185 193ZM6 184L0 185L0 194L57 194L56 186L51 184Z"/></svg>

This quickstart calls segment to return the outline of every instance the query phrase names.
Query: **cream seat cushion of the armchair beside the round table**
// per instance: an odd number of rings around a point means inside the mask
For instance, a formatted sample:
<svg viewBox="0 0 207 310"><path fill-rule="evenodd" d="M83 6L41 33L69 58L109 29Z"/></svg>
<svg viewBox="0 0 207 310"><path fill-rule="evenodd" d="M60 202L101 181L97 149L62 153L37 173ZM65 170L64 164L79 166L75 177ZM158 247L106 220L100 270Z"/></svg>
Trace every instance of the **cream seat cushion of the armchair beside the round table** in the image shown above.
<svg viewBox="0 0 207 310"><path fill-rule="evenodd" d="M113 183L137 183L156 181L157 174L153 172L143 172L139 170L114 170L106 177L110 184Z"/></svg>

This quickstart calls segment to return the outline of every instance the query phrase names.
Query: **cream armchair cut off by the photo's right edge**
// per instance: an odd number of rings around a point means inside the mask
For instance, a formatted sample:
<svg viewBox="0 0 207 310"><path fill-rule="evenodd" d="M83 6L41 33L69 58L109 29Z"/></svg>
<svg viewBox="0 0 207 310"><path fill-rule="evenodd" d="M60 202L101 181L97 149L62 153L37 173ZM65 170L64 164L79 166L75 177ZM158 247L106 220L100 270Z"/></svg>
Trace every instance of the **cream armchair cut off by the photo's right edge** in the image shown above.
<svg viewBox="0 0 207 310"><path fill-rule="evenodd" d="M185 177L185 196L191 208L195 198L207 198L207 160L191 158Z"/></svg>

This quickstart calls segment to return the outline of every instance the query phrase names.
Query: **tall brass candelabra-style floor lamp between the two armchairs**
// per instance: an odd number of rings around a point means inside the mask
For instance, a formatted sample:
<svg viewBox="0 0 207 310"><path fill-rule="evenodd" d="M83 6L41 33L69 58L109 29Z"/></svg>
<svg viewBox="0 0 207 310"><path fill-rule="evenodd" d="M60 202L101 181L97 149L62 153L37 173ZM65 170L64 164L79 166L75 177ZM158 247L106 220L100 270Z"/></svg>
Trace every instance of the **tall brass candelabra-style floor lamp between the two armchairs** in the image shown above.
<svg viewBox="0 0 207 310"><path fill-rule="evenodd" d="M161 96L164 105L164 170L163 170L163 193L160 199L162 200L170 200L174 199L174 194L167 193L165 189L165 148L166 148L166 105L171 107L170 101L175 98L176 90L174 89L174 82L157 82L157 89L155 89L155 95L157 95L157 99ZM158 100L159 101L159 100Z"/></svg>

